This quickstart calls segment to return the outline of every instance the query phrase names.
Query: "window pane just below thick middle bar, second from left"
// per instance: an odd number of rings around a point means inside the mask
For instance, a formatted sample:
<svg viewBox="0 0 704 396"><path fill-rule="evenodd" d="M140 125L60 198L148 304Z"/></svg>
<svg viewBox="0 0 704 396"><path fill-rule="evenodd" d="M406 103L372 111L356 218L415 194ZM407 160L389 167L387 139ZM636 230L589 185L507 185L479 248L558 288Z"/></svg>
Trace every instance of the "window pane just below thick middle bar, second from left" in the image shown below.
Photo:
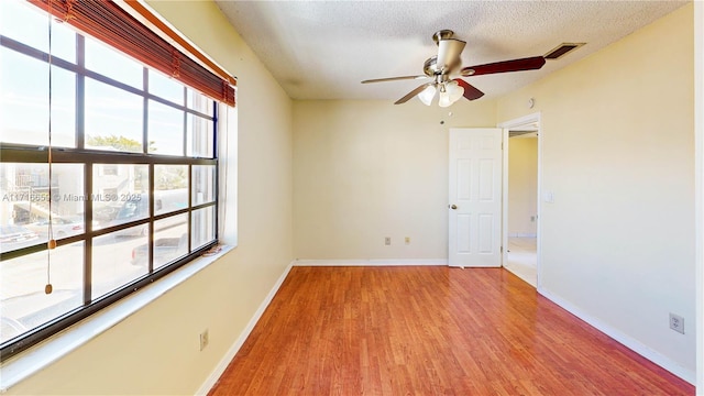
<svg viewBox="0 0 704 396"><path fill-rule="evenodd" d="M91 199L96 230L146 219L150 216L148 166L95 164ZM147 224L142 224L118 233L146 235L147 231Z"/></svg>

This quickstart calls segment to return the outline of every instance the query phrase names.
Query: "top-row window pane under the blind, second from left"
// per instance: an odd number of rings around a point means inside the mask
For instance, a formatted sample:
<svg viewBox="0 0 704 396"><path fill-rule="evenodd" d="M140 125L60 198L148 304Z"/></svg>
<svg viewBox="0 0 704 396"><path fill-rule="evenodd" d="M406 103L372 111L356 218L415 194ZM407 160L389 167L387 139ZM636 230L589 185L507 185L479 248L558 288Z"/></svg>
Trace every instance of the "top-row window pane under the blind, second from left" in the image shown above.
<svg viewBox="0 0 704 396"><path fill-rule="evenodd" d="M144 88L142 64L91 37L86 37L86 68L134 88Z"/></svg>

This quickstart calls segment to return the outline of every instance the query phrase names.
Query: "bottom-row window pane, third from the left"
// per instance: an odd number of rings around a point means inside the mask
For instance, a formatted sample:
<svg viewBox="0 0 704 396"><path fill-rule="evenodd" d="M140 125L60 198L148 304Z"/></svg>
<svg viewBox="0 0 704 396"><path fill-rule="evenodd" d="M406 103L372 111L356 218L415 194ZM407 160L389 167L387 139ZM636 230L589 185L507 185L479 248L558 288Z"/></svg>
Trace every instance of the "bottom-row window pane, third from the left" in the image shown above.
<svg viewBox="0 0 704 396"><path fill-rule="evenodd" d="M188 213L154 222L154 270L188 254ZM132 254L133 264L145 264L146 245Z"/></svg>

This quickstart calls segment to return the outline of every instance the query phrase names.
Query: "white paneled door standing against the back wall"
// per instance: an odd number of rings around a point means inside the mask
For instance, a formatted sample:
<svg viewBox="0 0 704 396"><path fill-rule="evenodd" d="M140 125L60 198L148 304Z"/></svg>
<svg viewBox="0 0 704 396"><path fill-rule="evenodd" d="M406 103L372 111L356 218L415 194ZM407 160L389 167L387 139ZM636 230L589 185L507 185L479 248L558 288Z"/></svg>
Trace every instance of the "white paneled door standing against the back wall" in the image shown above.
<svg viewBox="0 0 704 396"><path fill-rule="evenodd" d="M502 135L450 129L450 266L502 265Z"/></svg>

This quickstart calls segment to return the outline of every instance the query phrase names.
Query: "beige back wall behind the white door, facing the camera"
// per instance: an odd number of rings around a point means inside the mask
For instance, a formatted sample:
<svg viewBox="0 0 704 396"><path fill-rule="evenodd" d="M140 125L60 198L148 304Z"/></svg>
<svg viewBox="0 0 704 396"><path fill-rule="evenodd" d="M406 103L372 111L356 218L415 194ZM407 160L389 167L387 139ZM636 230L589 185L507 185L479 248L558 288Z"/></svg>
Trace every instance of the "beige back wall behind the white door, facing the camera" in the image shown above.
<svg viewBox="0 0 704 396"><path fill-rule="evenodd" d="M295 256L447 260L448 130L495 125L494 113L491 100L296 101Z"/></svg>

